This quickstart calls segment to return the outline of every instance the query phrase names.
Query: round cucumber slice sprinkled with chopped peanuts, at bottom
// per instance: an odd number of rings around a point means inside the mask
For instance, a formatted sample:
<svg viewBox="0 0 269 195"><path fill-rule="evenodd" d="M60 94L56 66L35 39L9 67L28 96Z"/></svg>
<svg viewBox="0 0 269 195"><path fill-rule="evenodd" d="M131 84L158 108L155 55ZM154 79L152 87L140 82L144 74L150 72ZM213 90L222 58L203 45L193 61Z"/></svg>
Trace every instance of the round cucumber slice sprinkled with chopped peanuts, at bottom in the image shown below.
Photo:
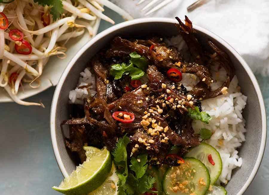
<svg viewBox="0 0 269 195"><path fill-rule="evenodd" d="M195 158L185 158L184 161L184 164L166 170L163 191L167 195L204 195L210 185L207 167Z"/></svg>

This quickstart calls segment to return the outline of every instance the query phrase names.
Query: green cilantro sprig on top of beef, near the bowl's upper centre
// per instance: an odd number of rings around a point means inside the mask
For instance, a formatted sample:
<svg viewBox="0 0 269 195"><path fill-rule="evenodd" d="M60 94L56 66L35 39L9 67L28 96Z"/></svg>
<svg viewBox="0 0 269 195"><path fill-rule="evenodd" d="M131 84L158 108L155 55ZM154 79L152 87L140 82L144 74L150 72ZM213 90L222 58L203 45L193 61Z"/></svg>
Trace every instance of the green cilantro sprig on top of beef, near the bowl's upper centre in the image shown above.
<svg viewBox="0 0 269 195"><path fill-rule="evenodd" d="M131 53L129 55L131 60L128 65L126 63L111 65L110 74L114 79L120 79L123 74L129 75L132 80L138 80L144 76L144 70L148 65L146 58L141 57L137 53Z"/></svg>

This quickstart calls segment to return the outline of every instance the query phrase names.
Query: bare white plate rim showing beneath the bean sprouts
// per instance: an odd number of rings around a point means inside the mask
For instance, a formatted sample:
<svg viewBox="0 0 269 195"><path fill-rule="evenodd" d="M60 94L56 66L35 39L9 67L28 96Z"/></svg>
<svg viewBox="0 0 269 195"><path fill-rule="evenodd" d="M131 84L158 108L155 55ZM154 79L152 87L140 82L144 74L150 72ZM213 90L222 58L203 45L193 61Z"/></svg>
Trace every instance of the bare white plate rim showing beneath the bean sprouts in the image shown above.
<svg viewBox="0 0 269 195"><path fill-rule="evenodd" d="M98 18L93 26L95 36L97 34L98 28L100 25L100 18ZM18 97L20 99L25 99L27 97L36 95L51 86L56 86L62 72L65 67L68 65L69 61L74 57L74 55L89 41L88 31L85 30L85 33L82 36L77 38L70 39L66 47L68 50L66 51L66 58L60 59L56 56L53 56L49 59L46 67L43 70L42 76L40 77L41 85L39 88L33 89L29 86L28 83L23 85L23 90L20 88L18 92ZM12 102L13 100L7 94L4 88L0 88L0 102Z"/></svg>

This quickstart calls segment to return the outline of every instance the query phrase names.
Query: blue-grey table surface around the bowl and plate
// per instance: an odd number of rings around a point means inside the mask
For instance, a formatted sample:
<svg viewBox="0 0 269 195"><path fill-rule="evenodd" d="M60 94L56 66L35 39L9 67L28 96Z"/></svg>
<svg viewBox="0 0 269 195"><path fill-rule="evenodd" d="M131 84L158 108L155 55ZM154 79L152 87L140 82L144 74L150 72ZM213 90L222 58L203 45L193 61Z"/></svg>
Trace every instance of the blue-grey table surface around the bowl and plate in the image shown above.
<svg viewBox="0 0 269 195"><path fill-rule="evenodd" d="M110 10L107 10L106 14L116 23L123 21ZM107 22L101 21L99 32L110 26ZM256 77L268 115L269 77ZM54 158L50 136L49 117L54 90L55 87L51 87L26 99L33 102L42 100L45 109L16 103L0 103L0 194L59 194L51 189L52 186L59 185L63 179ZM261 167L246 195L269 194L268 152L269 147L265 150Z"/></svg>

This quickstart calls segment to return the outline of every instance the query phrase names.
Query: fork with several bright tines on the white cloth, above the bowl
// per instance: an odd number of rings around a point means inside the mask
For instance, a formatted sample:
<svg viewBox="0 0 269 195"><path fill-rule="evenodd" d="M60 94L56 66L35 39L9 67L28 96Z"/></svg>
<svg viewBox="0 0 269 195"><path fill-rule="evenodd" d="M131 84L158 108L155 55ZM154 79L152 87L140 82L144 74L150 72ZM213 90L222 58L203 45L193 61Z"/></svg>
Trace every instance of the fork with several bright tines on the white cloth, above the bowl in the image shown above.
<svg viewBox="0 0 269 195"><path fill-rule="evenodd" d="M137 3L137 5L140 5L140 4L142 4L143 2L145 2L145 1L147 1L147 0L140 0L138 3ZM144 16L147 16L147 15L149 15L149 14L151 14L151 13L153 13L153 12L155 12L155 11L157 11L157 10L159 10L159 9L161 9L163 6L165 6L165 5L167 5L167 4L169 4L169 3L171 3L172 1L174 1L174 0L162 0L162 1L160 1L160 0L152 0L152 1L150 1L148 4L146 4L146 6L145 7L143 7L143 9L141 10L142 12L143 11L147 11L145 14L144 14ZM159 4L158 4L159 3ZM155 6L155 4L157 4L157 6ZM155 7L154 7L155 6Z"/></svg>

